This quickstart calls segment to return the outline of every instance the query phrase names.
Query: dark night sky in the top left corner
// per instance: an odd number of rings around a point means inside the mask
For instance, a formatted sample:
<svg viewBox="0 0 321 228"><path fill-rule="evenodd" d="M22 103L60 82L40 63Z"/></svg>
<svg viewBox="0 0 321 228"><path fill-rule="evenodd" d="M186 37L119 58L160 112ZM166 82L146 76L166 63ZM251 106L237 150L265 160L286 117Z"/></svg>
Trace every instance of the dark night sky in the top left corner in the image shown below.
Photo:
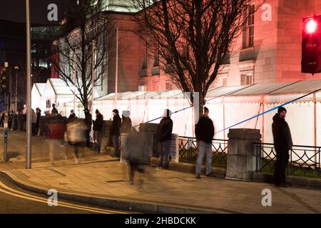
<svg viewBox="0 0 321 228"><path fill-rule="evenodd" d="M4 2L3 2L4 1ZM66 0L29 0L31 4L31 23L49 24L47 20L48 5L57 4L58 16L63 14ZM1 0L0 19L7 21L26 21L26 0Z"/></svg>

